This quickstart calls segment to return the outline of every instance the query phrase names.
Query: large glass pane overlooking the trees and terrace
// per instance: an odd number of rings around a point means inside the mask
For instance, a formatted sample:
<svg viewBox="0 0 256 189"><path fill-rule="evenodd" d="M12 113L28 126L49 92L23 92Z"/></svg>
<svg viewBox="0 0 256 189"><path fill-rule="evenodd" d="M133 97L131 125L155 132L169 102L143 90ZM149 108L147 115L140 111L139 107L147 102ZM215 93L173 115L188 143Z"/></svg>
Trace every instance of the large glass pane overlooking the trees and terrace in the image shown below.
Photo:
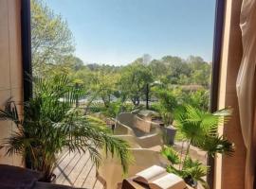
<svg viewBox="0 0 256 189"><path fill-rule="evenodd" d="M130 145L129 177L167 156L168 171L200 187L186 171L194 168L206 180L214 10L214 0L31 0L33 77L65 77L80 92L70 110L100 119L109 136ZM66 124L65 116L51 121ZM85 138L103 156L95 136ZM81 154L74 146L72 153L53 150L61 157L56 183L102 188L90 146ZM110 188L122 180L119 164L103 158L99 175Z"/></svg>

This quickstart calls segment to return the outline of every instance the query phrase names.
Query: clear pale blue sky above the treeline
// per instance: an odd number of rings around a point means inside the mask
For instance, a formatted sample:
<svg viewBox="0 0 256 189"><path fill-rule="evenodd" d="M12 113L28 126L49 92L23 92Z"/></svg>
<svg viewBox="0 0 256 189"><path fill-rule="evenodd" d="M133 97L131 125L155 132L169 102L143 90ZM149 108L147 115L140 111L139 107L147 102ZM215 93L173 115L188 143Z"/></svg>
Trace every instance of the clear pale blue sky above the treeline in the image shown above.
<svg viewBox="0 0 256 189"><path fill-rule="evenodd" d="M215 0L46 0L67 21L84 63L149 54L212 59Z"/></svg>

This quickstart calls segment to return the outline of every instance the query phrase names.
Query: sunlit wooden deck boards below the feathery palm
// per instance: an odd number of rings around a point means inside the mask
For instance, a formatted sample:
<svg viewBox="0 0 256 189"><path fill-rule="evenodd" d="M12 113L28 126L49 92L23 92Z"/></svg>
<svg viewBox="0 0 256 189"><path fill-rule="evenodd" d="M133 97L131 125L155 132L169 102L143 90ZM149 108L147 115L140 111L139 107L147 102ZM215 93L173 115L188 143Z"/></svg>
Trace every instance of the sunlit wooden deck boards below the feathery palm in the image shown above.
<svg viewBox="0 0 256 189"><path fill-rule="evenodd" d="M55 183L77 188L103 189L100 180L96 178L96 167L91 162L89 153L69 153L60 155L57 166Z"/></svg>

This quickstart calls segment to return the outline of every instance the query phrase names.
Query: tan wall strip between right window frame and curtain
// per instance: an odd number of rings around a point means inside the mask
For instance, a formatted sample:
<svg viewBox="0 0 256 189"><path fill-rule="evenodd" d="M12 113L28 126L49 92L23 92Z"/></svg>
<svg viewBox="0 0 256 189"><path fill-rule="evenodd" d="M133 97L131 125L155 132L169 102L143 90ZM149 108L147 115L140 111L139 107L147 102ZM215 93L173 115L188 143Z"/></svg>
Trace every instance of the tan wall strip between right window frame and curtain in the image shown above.
<svg viewBox="0 0 256 189"><path fill-rule="evenodd" d="M240 9L242 0L227 0L221 60L219 109L230 106L232 118L219 132L235 144L232 157L216 159L215 189L243 189L246 148L244 146L236 95L236 77L242 59Z"/></svg>

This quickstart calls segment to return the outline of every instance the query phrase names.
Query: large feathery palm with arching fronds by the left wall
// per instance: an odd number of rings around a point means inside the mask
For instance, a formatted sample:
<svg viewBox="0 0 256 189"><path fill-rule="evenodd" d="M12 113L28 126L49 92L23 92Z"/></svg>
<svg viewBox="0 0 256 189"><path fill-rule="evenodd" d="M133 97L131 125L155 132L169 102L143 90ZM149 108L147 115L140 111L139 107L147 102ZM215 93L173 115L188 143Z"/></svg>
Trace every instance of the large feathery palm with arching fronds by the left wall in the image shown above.
<svg viewBox="0 0 256 189"><path fill-rule="evenodd" d="M13 101L0 110L0 120L12 121L17 131L5 139L7 154L21 154L30 168L52 180L56 155L65 148L90 153L97 166L101 149L119 157L124 172L130 162L128 144L113 136L105 124L74 107L82 89L75 88L67 77L36 79L34 94L24 103L24 117L18 115Z"/></svg>

